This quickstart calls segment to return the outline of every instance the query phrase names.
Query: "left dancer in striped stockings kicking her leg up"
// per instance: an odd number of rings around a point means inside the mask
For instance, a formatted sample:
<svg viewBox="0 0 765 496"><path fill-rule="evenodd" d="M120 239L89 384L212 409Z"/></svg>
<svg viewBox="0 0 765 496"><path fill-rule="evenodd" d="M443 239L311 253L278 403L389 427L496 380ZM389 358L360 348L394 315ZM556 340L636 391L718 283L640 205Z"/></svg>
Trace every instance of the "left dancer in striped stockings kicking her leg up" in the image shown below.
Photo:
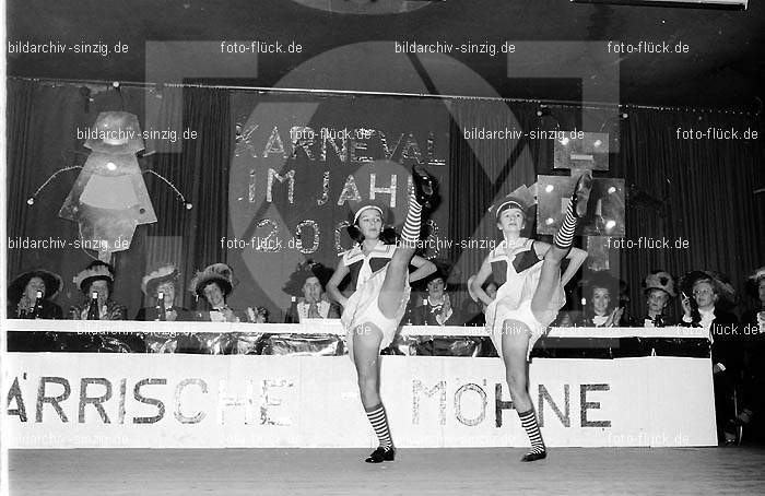
<svg viewBox="0 0 765 496"><path fill-rule="evenodd" d="M390 345L409 302L410 285L436 270L433 262L415 256L423 209L431 208L432 178L419 165L412 168L414 194L409 198L407 220L398 245L384 231L382 209L363 204L353 217L349 234L357 245L342 255L327 291L343 306L341 321L346 330L348 349L356 367L362 404L379 439L379 447L367 463L393 461L396 448L379 394L379 353ZM384 241L387 239L387 243ZM410 263L417 269L409 273ZM350 275L352 288L345 297L338 288Z"/></svg>

